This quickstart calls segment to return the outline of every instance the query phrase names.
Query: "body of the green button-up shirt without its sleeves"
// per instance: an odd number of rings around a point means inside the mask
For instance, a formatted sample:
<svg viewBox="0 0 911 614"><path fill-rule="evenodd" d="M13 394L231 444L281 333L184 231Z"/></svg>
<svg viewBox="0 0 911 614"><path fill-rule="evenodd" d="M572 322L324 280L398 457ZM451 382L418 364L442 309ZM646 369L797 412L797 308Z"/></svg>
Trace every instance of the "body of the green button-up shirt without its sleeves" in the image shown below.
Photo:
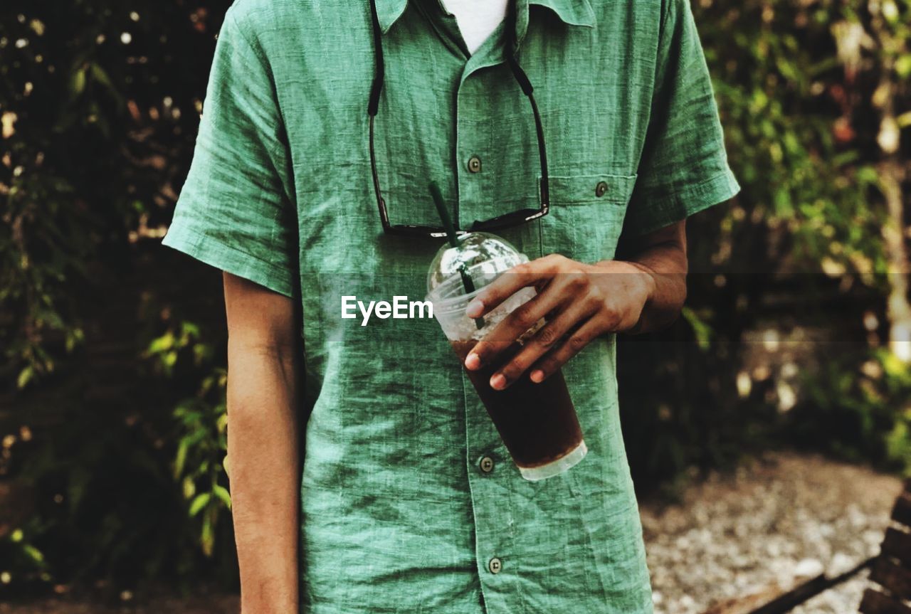
<svg viewBox="0 0 911 614"><path fill-rule="evenodd" d="M395 3L378 4L388 24ZM502 235L530 258L605 260L649 123L661 3L552 4L561 16L520 3L518 53L544 123L551 211ZM342 295L423 299L440 247L380 227L367 148L368 5L241 0L232 10L271 67L291 154L280 171L300 236L311 412L302 611L474 614L484 611L481 591L496 614L650 611L613 337L564 368L589 455L567 474L525 482L435 322L340 318ZM433 15L409 4L383 36L376 151L391 221L437 223L430 180L463 226L537 207L533 116L501 61L504 26L467 57L447 36L453 24ZM478 469L486 455L489 474ZM491 558L502 563L496 574Z"/></svg>

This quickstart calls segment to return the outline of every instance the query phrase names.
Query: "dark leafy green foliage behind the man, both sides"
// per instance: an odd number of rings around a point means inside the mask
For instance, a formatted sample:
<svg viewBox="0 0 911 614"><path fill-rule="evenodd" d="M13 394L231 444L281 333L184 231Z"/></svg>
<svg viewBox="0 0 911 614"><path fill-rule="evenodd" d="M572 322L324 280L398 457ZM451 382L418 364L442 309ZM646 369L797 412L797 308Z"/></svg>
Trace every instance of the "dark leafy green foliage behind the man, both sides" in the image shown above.
<svg viewBox="0 0 911 614"><path fill-rule="evenodd" d="M0 7L0 594L234 581L220 278L159 247L228 5ZM909 473L911 2L693 10L743 192L689 224L681 321L621 343L637 483L773 445Z"/></svg>

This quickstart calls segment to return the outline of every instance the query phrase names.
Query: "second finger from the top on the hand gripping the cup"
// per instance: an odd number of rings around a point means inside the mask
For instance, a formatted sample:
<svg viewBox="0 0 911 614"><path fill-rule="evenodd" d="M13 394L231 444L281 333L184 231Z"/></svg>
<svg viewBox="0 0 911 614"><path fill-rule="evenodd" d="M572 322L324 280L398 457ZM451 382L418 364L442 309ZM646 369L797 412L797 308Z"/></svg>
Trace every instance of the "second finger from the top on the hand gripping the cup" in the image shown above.
<svg viewBox="0 0 911 614"><path fill-rule="evenodd" d="M560 308L573 299L572 292L568 292L572 283L573 281L568 276L561 275L555 278L544 292L519 305L472 348L465 360L466 368L475 371L482 365L490 363L498 353L506 350L548 313L562 311ZM530 364L528 363L528 365ZM496 385L494 387L497 388Z"/></svg>

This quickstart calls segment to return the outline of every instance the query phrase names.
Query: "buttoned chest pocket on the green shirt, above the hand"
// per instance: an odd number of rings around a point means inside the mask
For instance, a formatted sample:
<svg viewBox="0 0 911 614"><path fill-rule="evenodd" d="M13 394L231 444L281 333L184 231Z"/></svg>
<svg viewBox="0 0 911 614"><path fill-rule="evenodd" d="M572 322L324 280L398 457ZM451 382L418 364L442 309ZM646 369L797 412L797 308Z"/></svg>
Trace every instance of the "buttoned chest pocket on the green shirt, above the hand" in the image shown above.
<svg viewBox="0 0 911 614"><path fill-rule="evenodd" d="M612 259L636 175L549 179L550 212L541 219L543 253L589 263Z"/></svg>

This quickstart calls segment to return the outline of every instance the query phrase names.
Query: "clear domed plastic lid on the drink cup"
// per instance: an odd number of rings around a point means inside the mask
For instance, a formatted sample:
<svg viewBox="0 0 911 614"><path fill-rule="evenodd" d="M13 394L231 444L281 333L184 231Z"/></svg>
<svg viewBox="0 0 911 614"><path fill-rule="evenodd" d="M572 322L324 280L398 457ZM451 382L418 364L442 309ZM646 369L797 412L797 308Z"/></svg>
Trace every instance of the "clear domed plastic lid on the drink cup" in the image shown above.
<svg viewBox="0 0 911 614"><path fill-rule="evenodd" d="M480 289L503 271L527 260L507 240L487 232L471 232L461 237L458 247L446 244L436 252L427 271L427 293L434 294L446 281L450 283L445 285L452 285L456 280L461 285L466 273L470 274L475 288Z"/></svg>

